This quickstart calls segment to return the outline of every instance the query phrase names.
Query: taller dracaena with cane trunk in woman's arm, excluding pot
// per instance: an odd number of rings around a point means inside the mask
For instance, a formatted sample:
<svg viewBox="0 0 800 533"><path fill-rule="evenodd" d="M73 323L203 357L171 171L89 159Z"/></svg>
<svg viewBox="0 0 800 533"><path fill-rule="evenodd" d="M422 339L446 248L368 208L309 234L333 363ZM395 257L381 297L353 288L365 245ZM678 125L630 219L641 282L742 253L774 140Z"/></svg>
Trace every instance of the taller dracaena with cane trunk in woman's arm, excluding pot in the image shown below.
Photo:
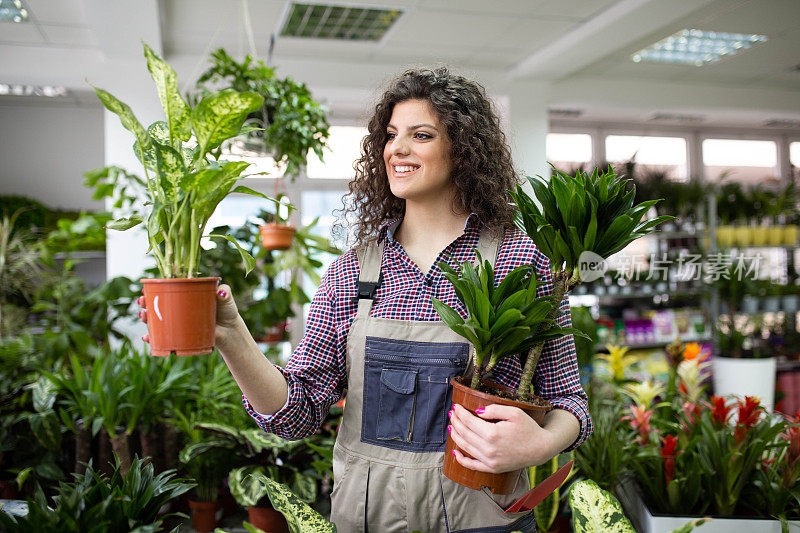
<svg viewBox="0 0 800 533"><path fill-rule="evenodd" d="M675 218L646 218L659 200L634 205L635 186L630 187L630 180L615 175L611 167L603 173L578 170L574 176L554 168L549 182L541 176L528 177L528 181L533 197L520 185L510 191L517 207L516 224L550 259L552 296L559 303L581 282L581 274L596 274L609 256ZM548 318L557 319L561 312L556 305ZM543 343L532 348L518 395L530 388Z"/></svg>

